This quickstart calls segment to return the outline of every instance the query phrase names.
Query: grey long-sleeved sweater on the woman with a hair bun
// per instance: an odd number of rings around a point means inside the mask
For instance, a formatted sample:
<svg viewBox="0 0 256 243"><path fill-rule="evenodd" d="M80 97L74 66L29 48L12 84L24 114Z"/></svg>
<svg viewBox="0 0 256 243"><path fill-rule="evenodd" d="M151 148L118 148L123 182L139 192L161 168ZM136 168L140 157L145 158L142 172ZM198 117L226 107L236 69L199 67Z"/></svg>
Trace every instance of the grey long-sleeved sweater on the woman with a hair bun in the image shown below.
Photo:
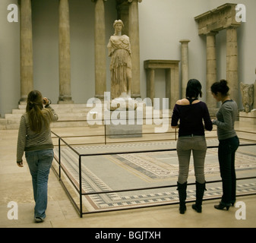
<svg viewBox="0 0 256 243"><path fill-rule="evenodd" d="M235 137L235 118L238 115L237 104L233 100L226 100L216 113L216 120L213 125L217 126L219 140Z"/></svg>

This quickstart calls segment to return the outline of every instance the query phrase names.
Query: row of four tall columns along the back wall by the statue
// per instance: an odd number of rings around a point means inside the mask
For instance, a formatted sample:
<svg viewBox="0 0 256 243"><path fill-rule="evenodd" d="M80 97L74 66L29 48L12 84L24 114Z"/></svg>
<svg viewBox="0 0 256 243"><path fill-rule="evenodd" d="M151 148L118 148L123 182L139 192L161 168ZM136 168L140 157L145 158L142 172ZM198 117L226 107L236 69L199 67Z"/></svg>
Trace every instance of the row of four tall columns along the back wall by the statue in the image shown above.
<svg viewBox="0 0 256 243"><path fill-rule="evenodd" d="M105 39L105 7L106 0L95 2L95 97L103 99L106 92L106 39ZM134 97L140 95L140 50L138 2L128 0L129 37L131 41L132 89ZM58 62L59 62L59 97L58 103L73 103L71 98L71 54L70 24L68 0L59 0L58 24ZM27 94L33 90L33 36L31 0L21 0L21 99L24 103Z"/></svg>

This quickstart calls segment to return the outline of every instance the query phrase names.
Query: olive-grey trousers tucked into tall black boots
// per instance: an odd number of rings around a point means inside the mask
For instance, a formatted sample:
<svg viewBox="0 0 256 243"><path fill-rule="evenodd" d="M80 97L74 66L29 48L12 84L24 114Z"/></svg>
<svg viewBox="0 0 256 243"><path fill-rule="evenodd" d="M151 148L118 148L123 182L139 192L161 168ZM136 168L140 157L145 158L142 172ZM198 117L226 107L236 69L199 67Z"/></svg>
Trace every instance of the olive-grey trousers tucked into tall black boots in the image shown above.
<svg viewBox="0 0 256 243"><path fill-rule="evenodd" d="M204 159L207 151L207 143L204 136L179 137L177 142L177 153L179 158L179 178L178 182L183 184L188 180L188 170L191 152L194 159L194 175L196 181L203 184Z"/></svg>

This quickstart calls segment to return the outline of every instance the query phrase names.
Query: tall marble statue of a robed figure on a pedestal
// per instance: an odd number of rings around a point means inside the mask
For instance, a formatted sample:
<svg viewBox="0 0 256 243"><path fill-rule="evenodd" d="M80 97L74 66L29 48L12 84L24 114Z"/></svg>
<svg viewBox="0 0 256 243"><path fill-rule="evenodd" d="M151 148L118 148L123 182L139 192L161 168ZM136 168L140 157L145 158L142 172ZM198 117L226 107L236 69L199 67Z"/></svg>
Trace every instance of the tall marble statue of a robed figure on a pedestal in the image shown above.
<svg viewBox="0 0 256 243"><path fill-rule="evenodd" d="M115 33L108 43L109 56L111 57L111 96L131 97L131 45L130 39L122 35L124 24L121 20L114 22Z"/></svg>

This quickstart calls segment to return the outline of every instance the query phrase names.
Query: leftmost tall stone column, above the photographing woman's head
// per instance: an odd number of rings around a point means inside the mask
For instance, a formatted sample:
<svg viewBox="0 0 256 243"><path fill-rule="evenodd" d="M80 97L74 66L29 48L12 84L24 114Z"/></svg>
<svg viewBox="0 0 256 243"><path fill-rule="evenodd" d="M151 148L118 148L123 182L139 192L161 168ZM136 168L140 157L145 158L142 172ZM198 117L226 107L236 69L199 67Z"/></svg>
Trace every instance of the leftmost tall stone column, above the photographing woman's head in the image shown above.
<svg viewBox="0 0 256 243"><path fill-rule="evenodd" d="M31 0L21 0L21 99L27 102L27 95L33 90L33 44Z"/></svg>

